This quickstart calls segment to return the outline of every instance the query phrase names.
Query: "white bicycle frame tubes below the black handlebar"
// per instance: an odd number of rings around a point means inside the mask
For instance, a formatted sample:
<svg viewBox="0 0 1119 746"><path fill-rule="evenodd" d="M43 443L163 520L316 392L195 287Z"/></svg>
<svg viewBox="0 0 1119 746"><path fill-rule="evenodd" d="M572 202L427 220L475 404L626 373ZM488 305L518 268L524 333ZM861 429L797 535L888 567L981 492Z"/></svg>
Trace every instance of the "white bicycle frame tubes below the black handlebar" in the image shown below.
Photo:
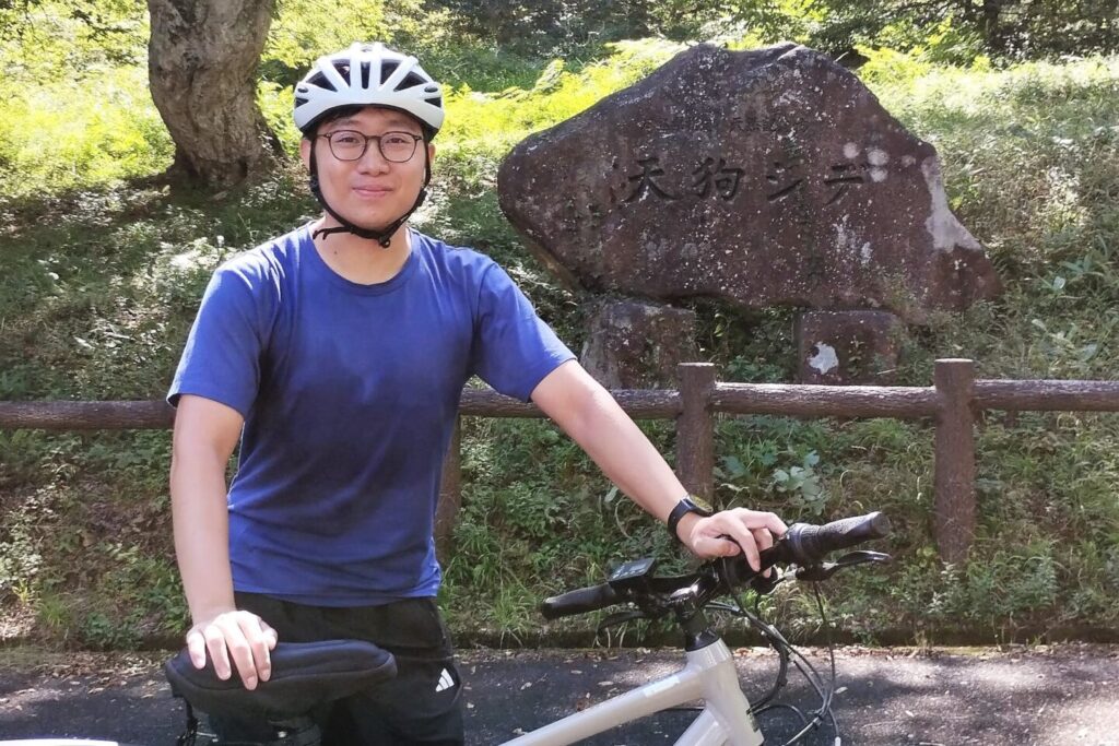
<svg viewBox="0 0 1119 746"><path fill-rule="evenodd" d="M676 746L761 746L762 731L750 714L750 702L739 686L734 657L717 640L687 653L687 664L677 673L652 681L568 715L504 746L566 746L614 726L696 699L704 709Z"/></svg>

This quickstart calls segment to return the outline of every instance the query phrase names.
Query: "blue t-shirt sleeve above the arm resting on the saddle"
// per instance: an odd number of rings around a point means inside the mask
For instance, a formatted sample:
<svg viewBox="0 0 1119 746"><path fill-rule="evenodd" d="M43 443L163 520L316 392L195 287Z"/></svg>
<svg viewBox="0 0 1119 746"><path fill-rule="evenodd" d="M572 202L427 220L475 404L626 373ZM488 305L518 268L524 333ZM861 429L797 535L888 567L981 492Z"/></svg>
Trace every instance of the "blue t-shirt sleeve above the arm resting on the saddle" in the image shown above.
<svg viewBox="0 0 1119 746"><path fill-rule="evenodd" d="M214 273L167 395L171 406L191 394L248 416L260 386L264 338L256 274L235 264Z"/></svg>

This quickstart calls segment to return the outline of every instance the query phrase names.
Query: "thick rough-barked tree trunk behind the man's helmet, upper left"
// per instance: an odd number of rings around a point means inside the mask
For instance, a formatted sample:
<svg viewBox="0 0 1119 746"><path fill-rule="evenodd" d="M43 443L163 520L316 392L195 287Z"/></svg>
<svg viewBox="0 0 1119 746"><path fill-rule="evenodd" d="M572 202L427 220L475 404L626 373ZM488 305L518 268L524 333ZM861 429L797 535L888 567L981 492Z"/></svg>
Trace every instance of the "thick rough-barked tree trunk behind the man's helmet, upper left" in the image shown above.
<svg viewBox="0 0 1119 746"><path fill-rule="evenodd" d="M275 0L148 0L148 79L175 141L169 176L228 187L271 169L280 142L256 106Z"/></svg>

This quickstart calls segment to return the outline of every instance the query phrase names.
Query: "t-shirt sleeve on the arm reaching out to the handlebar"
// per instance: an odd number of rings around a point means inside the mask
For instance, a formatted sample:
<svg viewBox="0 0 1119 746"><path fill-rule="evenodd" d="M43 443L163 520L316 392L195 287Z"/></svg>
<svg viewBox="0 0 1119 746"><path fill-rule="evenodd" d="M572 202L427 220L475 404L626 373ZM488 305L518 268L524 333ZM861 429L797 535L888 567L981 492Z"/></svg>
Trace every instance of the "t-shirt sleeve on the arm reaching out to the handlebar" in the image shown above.
<svg viewBox="0 0 1119 746"><path fill-rule="evenodd" d="M471 371L528 402L545 376L574 357L505 270L490 265L478 294Z"/></svg>

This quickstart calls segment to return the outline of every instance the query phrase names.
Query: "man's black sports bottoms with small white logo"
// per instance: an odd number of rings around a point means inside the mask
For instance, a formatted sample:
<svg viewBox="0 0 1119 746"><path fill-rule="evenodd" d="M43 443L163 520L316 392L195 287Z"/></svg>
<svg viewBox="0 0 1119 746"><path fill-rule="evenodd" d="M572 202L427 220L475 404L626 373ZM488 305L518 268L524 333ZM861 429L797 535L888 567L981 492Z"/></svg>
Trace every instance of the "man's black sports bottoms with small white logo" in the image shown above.
<svg viewBox="0 0 1119 746"><path fill-rule="evenodd" d="M463 743L462 682L433 598L336 608L237 593L236 603L272 625L281 641L366 640L396 658L395 679L314 714L323 746ZM272 737L266 723L213 718L211 725L226 743Z"/></svg>

